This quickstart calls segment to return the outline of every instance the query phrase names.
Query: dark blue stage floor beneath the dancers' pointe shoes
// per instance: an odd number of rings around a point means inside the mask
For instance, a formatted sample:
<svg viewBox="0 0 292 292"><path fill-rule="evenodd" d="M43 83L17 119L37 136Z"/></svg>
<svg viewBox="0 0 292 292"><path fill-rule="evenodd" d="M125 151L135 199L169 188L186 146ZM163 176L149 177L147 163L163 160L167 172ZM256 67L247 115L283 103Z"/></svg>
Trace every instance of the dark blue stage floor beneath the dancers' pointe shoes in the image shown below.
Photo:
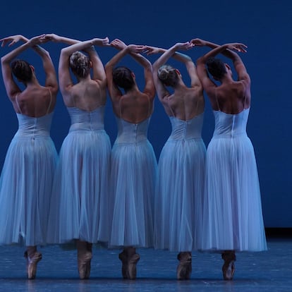
<svg viewBox="0 0 292 292"><path fill-rule="evenodd" d="M270 238L263 253L238 253L233 281L221 275L221 255L193 253L193 273L188 281L176 280L176 253L138 250L138 279L121 279L119 250L95 247L89 280L78 278L75 250L58 246L40 248L42 261L37 279L27 280L23 248L0 248L0 291L292 291L292 239Z"/></svg>

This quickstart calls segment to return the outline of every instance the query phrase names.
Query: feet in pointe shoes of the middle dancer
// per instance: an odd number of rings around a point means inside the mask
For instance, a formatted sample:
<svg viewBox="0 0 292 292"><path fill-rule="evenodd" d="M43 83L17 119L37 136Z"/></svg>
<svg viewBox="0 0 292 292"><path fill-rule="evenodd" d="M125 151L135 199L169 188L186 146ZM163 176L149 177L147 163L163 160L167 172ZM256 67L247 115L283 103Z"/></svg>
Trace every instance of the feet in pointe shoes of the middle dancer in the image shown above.
<svg viewBox="0 0 292 292"><path fill-rule="evenodd" d="M136 279L137 269L136 264L140 260L140 255L136 253L135 248L124 248L118 255L122 262L122 275L123 279Z"/></svg>

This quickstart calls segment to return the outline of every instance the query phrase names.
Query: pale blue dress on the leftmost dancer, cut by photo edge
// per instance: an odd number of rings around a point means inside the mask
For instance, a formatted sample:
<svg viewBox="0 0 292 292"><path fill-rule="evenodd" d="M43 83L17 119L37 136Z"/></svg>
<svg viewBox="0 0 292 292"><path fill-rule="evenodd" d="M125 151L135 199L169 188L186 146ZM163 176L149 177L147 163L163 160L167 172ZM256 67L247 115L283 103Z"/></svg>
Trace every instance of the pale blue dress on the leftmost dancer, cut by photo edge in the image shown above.
<svg viewBox="0 0 292 292"><path fill-rule="evenodd" d="M0 178L0 244L46 243L57 161L49 133L52 116L17 114L19 128L8 147Z"/></svg>

